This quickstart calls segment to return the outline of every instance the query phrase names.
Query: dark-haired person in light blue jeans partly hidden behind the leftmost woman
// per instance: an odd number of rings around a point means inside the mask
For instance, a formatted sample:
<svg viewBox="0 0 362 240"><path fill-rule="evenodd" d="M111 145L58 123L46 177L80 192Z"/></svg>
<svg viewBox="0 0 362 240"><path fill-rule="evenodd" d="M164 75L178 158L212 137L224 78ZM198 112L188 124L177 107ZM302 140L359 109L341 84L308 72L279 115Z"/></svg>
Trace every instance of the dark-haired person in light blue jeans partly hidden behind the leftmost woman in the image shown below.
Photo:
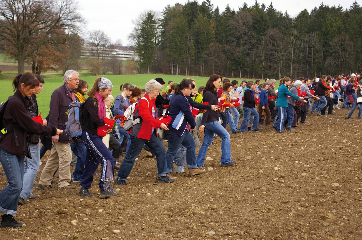
<svg viewBox="0 0 362 240"><path fill-rule="evenodd" d="M32 103L31 106L27 108L27 111L31 118L37 117L39 115L38 101L37 96L40 94L40 91L43 89L44 79L40 75L35 75L39 81L39 86L35 89L34 94L29 97L29 101ZM47 125L47 121L43 119L43 125ZM28 144L29 150L31 153L31 158L25 159L24 167L24 181L22 190L20 193L19 204L28 204L26 199L36 199L38 195L33 194L34 180L37 177L39 171L40 163L40 136L37 134L29 135Z"/></svg>

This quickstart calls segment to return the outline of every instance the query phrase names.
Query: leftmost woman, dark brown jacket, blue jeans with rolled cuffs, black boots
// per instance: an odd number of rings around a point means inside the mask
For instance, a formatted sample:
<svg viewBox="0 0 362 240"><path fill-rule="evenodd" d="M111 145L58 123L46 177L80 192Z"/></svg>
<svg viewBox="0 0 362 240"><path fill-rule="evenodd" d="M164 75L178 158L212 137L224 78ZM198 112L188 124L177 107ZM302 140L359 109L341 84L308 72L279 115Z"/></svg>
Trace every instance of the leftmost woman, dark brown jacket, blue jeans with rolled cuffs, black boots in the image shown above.
<svg viewBox="0 0 362 240"><path fill-rule="evenodd" d="M3 140L0 142L0 162L3 166L8 186L0 192L1 227L21 227L24 223L17 222L17 206L24 182L25 157L31 158L27 133L59 135L63 132L54 126L43 126L33 121L26 108L31 108L29 100L37 87L39 80L32 73L17 75L13 80L14 95L9 97L5 106L3 119ZM35 157L35 156L34 156Z"/></svg>

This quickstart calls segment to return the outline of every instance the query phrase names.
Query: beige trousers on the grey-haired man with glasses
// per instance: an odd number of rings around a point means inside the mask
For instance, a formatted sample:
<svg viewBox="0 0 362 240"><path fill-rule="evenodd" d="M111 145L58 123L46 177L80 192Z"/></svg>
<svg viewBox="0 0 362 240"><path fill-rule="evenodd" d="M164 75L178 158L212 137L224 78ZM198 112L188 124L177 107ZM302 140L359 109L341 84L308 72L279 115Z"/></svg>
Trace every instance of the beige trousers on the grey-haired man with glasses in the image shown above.
<svg viewBox="0 0 362 240"><path fill-rule="evenodd" d="M71 180L70 165L72 161L72 150L70 143L54 143L51 147L51 154L46 162L39 183L45 186L51 184L53 174L58 169L59 182L58 187L66 187Z"/></svg>

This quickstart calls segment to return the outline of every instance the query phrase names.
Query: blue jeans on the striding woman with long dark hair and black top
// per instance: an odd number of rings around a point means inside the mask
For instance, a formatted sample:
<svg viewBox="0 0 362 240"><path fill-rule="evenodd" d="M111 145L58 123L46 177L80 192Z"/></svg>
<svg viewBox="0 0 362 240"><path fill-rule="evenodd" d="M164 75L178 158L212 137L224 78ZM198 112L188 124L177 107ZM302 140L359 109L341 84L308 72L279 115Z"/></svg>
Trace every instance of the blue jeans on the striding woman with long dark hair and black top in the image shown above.
<svg viewBox="0 0 362 240"><path fill-rule="evenodd" d="M205 136L203 143L200 147L199 153L197 154L196 164L197 166L203 166L207 149L212 143L212 139L214 139L214 135L217 134L221 140L221 163L231 162L231 150L230 150L230 134L223 128L218 122L207 122L205 124Z"/></svg>

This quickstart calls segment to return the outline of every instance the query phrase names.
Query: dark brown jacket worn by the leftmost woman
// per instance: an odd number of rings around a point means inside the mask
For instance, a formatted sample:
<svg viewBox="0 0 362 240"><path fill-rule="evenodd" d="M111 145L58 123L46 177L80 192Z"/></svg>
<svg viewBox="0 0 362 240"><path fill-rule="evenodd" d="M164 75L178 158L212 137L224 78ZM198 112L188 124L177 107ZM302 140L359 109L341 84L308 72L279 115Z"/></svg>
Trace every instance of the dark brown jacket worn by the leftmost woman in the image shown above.
<svg viewBox="0 0 362 240"><path fill-rule="evenodd" d="M9 100L5 108L3 125L6 127L9 123L10 128L1 141L0 147L5 148L9 153L19 157L30 157L29 145L26 138L27 134L43 134L54 136L56 128L43 126L31 119L26 108L32 105L28 97L23 97L20 91L14 93L16 99ZM14 132L16 139L14 137ZM17 146L18 145L18 146Z"/></svg>

